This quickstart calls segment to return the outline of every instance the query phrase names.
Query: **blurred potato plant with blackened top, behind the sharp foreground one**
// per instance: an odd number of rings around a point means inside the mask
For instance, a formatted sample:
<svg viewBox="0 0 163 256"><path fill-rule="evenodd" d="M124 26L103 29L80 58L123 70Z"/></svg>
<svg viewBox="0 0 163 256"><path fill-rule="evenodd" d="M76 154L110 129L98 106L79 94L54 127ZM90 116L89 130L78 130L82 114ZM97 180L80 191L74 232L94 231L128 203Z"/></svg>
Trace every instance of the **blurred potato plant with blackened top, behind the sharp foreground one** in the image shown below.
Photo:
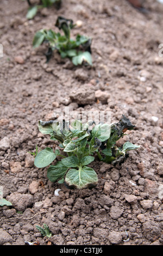
<svg viewBox="0 0 163 256"><path fill-rule="evenodd" d="M43 43L48 43L47 62L52 57L53 51L57 50L61 58L68 57L72 59L74 65L82 65L83 63L92 65L91 38L78 34L76 40L71 39L70 32L75 25L73 25L72 20L64 17L59 16L55 26L61 29L64 35L52 31L52 29L41 29L36 32L33 39L34 48Z"/></svg>

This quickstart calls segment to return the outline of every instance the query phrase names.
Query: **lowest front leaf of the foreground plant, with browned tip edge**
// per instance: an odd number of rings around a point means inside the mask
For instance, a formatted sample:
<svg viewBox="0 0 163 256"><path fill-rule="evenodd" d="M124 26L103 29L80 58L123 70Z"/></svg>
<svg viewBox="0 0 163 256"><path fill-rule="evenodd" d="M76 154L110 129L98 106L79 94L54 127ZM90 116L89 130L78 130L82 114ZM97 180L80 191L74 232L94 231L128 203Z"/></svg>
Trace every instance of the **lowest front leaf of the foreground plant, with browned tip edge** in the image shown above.
<svg viewBox="0 0 163 256"><path fill-rule="evenodd" d="M83 168L68 170L65 182L68 186L76 188L95 187L98 182L97 174L92 168L84 166Z"/></svg>

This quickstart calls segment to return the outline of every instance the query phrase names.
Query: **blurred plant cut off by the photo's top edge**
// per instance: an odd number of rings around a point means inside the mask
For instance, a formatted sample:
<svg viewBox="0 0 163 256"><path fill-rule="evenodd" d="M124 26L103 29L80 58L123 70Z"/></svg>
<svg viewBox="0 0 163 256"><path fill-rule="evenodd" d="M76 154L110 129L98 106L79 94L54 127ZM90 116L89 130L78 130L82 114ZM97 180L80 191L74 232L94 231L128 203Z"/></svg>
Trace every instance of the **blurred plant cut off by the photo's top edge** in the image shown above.
<svg viewBox="0 0 163 256"><path fill-rule="evenodd" d="M42 8L48 8L52 5L55 5L57 9L61 7L61 0L40 0L39 4L32 4L30 0L27 0L29 8L28 13L26 15L27 19L33 19L35 15L37 14L37 11Z"/></svg>

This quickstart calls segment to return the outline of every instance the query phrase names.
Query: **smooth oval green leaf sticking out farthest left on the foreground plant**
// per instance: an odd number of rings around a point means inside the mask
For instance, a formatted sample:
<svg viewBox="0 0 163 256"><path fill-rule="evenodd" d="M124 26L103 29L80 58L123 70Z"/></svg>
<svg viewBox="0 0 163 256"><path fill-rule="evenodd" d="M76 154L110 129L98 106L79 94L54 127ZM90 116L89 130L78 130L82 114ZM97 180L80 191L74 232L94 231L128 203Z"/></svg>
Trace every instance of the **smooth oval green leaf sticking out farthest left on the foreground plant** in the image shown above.
<svg viewBox="0 0 163 256"><path fill-rule="evenodd" d="M54 161L56 156L57 155L53 152L53 149L45 148L36 155L34 164L38 168L46 167Z"/></svg>

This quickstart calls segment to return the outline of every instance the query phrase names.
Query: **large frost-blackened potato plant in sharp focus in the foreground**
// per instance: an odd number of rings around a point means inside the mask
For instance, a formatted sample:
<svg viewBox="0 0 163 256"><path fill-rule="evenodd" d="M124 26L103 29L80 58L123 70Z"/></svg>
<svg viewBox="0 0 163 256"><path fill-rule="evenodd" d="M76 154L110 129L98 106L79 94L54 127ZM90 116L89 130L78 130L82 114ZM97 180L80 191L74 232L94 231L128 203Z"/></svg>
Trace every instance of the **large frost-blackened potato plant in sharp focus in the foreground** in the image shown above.
<svg viewBox="0 0 163 256"><path fill-rule="evenodd" d="M95 160L93 155L97 154L99 160L106 163L124 162L128 151L139 146L126 142L122 148L118 148L115 144L127 129L133 128L129 119L124 116L119 123L111 125L96 125L93 121L82 124L80 120L74 120L71 124L65 120L61 123L53 120L39 121L40 132L50 135L53 141L58 141L61 150L53 151L48 147L43 149L36 155L34 164L38 168L44 168L60 156L61 160L47 170L49 180L65 183L69 188L95 187L98 182L97 174L88 167Z"/></svg>

